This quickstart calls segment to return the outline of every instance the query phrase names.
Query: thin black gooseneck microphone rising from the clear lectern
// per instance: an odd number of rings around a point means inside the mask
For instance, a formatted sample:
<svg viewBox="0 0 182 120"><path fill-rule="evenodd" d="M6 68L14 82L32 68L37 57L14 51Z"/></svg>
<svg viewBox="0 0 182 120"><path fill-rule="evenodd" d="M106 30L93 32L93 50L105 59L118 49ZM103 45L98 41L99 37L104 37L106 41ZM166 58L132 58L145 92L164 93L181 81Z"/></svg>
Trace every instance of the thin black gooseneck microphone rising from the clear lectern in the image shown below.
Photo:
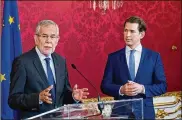
<svg viewBox="0 0 182 120"><path fill-rule="evenodd" d="M94 89L95 91L97 92L97 99L98 99L98 102L101 102L98 104L98 109L100 111L100 114L102 114L102 110L104 109L104 103L101 101L101 98L100 98L100 94L99 92L97 91L96 87L90 82L90 80L88 80L77 68L74 64L71 64L72 68L75 69Z"/></svg>

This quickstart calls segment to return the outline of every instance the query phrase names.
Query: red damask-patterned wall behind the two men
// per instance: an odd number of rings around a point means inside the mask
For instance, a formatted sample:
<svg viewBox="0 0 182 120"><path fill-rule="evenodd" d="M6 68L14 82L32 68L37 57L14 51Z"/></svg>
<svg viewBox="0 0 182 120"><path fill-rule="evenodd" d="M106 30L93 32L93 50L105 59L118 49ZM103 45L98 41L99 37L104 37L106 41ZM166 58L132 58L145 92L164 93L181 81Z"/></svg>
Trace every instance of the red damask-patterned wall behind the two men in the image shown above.
<svg viewBox="0 0 182 120"><path fill-rule="evenodd" d="M143 46L160 52L165 67L168 91L181 90L181 2L125 1L117 10L89 8L89 1L18 1L23 52L34 46L36 23L52 19L60 27L56 52L67 59L71 85L94 89L75 71L77 68L100 91L107 55L124 47L123 22L131 15L147 23ZM173 50L172 46L177 50ZM103 95L103 94L102 94Z"/></svg>

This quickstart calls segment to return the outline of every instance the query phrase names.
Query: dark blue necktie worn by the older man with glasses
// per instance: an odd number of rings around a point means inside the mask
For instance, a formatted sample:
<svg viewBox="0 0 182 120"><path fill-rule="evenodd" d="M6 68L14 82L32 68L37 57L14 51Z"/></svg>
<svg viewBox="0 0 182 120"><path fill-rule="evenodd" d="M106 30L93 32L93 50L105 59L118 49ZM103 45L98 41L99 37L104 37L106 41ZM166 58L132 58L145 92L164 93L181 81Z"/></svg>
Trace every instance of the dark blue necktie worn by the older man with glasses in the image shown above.
<svg viewBox="0 0 182 120"><path fill-rule="evenodd" d="M55 101L55 82L54 82L54 76L50 67L50 58L45 58L46 61L46 66L47 66L47 79L48 79L48 83L49 85L53 85L53 88L51 89L51 97L53 99L53 101Z"/></svg>

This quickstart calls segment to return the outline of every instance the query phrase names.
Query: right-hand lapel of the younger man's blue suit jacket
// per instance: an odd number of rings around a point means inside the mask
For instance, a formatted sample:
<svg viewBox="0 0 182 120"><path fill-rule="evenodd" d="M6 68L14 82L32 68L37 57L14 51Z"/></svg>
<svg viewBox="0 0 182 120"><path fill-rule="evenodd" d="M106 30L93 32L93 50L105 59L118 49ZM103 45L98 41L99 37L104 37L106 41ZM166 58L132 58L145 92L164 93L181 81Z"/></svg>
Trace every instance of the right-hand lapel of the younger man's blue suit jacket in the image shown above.
<svg viewBox="0 0 182 120"><path fill-rule="evenodd" d="M144 62L146 56L147 56L146 49L144 47L142 47L142 54L141 54L141 58L140 58L140 64L138 66L138 71L137 71L137 74L136 74L136 77L135 77L136 81L137 81L137 77L140 76L140 73L141 73L141 70L142 70L142 65L143 65L143 62Z"/></svg>

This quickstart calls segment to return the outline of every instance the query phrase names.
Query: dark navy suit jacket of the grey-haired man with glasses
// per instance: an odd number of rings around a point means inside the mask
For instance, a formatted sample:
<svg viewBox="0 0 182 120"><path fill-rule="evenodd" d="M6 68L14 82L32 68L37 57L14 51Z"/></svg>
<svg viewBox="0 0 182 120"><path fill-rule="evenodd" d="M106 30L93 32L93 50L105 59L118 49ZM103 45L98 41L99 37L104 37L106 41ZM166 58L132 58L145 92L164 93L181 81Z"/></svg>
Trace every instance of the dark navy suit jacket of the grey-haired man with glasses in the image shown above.
<svg viewBox="0 0 182 120"><path fill-rule="evenodd" d="M56 75L56 103L39 104L39 93L49 84L35 48L14 60L11 71L9 106L20 111L21 118L73 103L72 89L68 81L66 61L52 54Z"/></svg>

